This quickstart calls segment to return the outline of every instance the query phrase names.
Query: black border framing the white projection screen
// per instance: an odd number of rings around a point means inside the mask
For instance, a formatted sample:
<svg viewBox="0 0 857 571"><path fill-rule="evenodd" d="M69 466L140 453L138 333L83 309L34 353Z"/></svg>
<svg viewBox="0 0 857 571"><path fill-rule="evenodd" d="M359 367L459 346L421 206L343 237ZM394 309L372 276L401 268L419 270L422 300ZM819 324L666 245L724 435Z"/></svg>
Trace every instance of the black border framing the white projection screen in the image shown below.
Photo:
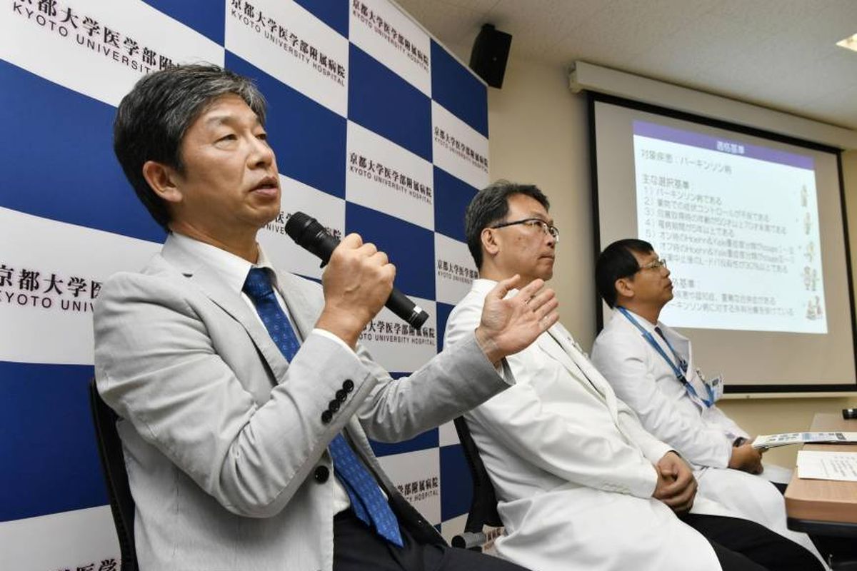
<svg viewBox="0 0 857 571"><path fill-rule="evenodd" d="M857 313L854 311L854 277L852 274L851 265L851 246L848 234L848 211L845 208L845 184L842 173L842 149L815 143L809 140L803 140L797 137L791 137L784 134L773 133L761 128L749 127L738 123L728 122L722 119L715 119L661 107L655 104L643 103L634 101L633 99L622 98L607 93L586 91L586 107L589 122L589 151L590 151L590 187L592 190L592 230L593 230L593 264L598 259L598 254L601 253L601 217L598 208L598 157L596 145L596 103L612 104L626 109L644 111L654 115L665 116L670 119L678 119L680 121L697 123L704 127L720 128L733 131L738 134L746 134L753 137L773 140L786 145L799 146L812 151L828 152L836 157L836 174L839 176L839 208L842 212L842 239L845 241L845 266L846 276L848 277L848 306L851 314L851 340L852 340L852 366L857 369ZM604 318L601 307L603 301L597 290L595 292L596 307L596 336L604 328ZM761 395L764 393L782 394L782 393L811 393L818 396L824 396L829 393L848 393L857 394L857 382L854 384L741 384L741 385L726 385L724 393L728 395Z"/></svg>

